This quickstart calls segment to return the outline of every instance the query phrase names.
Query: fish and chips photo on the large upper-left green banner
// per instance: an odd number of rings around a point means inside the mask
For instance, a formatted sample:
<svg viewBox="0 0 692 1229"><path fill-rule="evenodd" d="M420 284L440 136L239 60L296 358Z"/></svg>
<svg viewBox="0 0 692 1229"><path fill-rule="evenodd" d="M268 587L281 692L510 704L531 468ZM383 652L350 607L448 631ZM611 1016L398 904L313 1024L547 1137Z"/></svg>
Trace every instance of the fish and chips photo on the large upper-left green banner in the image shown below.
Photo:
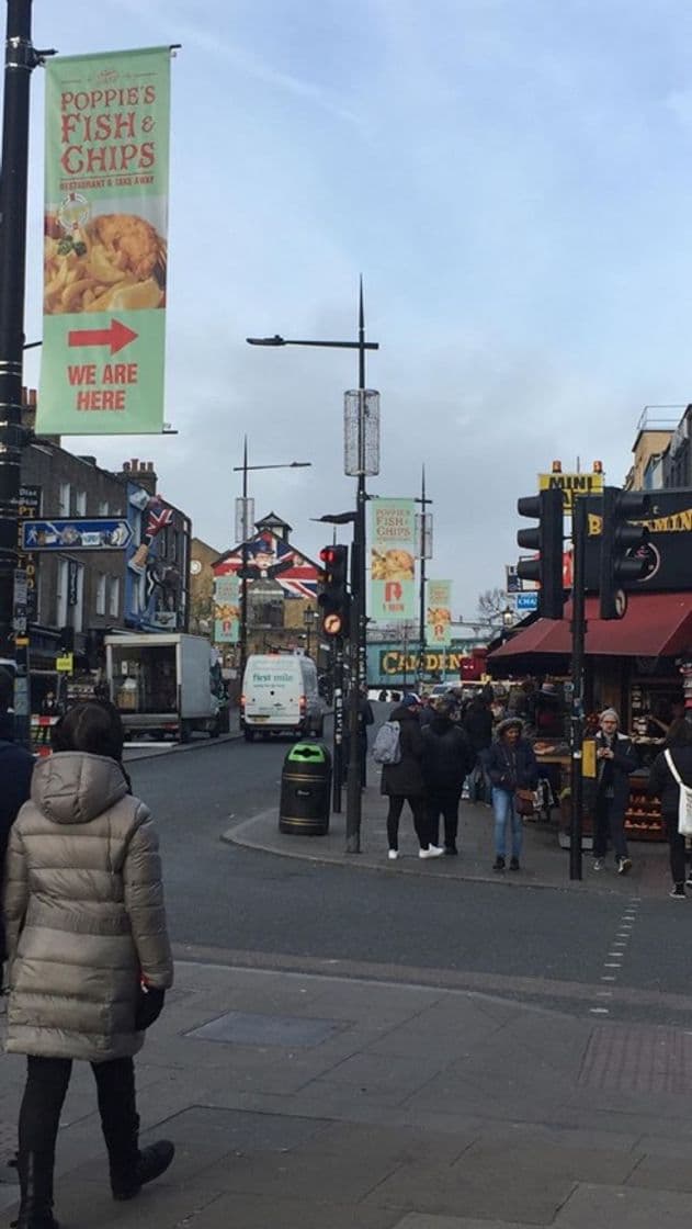
<svg viewBox="0 0 692 1229"><path fill-rule="evenodd" d="M45 215L47 316L163 307L166 269L166 241L136 214L100 214L69 231L57 213Z"/></svg>

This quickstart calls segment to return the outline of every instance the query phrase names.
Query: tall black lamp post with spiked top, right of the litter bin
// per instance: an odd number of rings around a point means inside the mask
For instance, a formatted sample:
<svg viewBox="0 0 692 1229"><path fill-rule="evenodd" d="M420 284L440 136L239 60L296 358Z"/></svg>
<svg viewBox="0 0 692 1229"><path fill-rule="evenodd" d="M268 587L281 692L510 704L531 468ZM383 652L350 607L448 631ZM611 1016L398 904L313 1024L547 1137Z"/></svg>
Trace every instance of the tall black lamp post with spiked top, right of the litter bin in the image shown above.
<svg viewBox="0 0 692 1229"><path fill-rule="evenodd" d="M356 392L356 407L358 407L358 441L355 450L355 466L352 468L347 466L347 473L353 473L358 476L358 488L356 488L356 508L355 508L355 520L353 530L353 552L352 552L352 613L353 613L353 626L355 627L355 634L352 633L352 653L350 653L350 693L349 693L349 742L350 742L350 755L349 755L349 768L348 768L348 789L347 789L347 841L345 850L347 853L360 853L360 821L361 821L361 777L360 777L360 756L356 752L358 747L358 717L359 717L359 698L360 698L360 686L366 682L368 678L368 666L366 666L366 610L365 610L365 506L368 500L368 494L365 489L365 478L369 473L379 472L379 456L376 460L376 468L371 468L368 465L366 457L366 415L368 415L368 397L371 396L365 386L365 351L366 350L379 350L380 345L377 342L365 340L365 315L363 307L363 278L360 279L360 293L359 293L359 316L358 316L358 340L356 342L318 342L318 340L306 340L306 339L289 339L280 334L274 334L274 337L248 337L247 343L250 345L265 345L265 347L279 347L279 345L313 345L326 349L342 349L342 350L358 350L358 392ZM375 395L376 396L376 395ZM349 398L352 403L354 401L353 395L347 393L347 423L349 412ZM372 417L372 422L379 422L379 412ZM347 431L347 456L349 454L349 439Z"/></svg>

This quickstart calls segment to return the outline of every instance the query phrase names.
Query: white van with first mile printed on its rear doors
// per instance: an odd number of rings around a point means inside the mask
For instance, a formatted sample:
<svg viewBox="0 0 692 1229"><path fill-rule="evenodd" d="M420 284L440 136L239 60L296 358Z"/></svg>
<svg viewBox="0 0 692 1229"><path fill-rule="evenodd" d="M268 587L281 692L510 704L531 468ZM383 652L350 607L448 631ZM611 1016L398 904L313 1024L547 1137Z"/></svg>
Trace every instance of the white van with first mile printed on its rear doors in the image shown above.
<svg viewBox="0 0 692 1229"><path fill-rule="evenodd" d="M322 736L324 710L310 658L253 654L242 680L240 724L246 741L257 732Z"/></svg>

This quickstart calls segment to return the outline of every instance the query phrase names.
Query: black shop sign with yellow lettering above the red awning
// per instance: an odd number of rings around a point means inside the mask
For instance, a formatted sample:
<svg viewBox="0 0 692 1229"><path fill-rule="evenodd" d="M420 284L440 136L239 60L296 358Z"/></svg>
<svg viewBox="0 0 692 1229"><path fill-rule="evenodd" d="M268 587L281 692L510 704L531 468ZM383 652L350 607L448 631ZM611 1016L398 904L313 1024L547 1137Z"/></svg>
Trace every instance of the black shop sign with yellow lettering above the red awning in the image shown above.
<svg viewBox="0 0 692 1229"><path fill-rule="evenodd" d="M627 583L629 592L644 590L692 590L692 488L653 490L648 493L651 511L633 524L645 525L649 538L638 549L647 560L647 573L640 580ZM601 515L599 501L590 499L586 540L586 589L599 587Z"/></svg>

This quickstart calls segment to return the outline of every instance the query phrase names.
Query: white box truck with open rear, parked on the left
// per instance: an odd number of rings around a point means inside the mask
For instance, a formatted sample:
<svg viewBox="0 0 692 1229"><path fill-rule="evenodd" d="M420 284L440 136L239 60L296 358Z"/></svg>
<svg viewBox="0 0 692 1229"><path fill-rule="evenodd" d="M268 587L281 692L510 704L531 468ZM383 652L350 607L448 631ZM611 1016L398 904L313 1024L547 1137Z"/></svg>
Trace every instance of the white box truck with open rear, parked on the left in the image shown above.
<svg viewBox="0 0 692 1229"><path fill-rule="evenodd" d="M113 704L132 737L144 731L187 742L229 728L221 671L209 640L183 632L107 635L106 670Z"/></svg>

